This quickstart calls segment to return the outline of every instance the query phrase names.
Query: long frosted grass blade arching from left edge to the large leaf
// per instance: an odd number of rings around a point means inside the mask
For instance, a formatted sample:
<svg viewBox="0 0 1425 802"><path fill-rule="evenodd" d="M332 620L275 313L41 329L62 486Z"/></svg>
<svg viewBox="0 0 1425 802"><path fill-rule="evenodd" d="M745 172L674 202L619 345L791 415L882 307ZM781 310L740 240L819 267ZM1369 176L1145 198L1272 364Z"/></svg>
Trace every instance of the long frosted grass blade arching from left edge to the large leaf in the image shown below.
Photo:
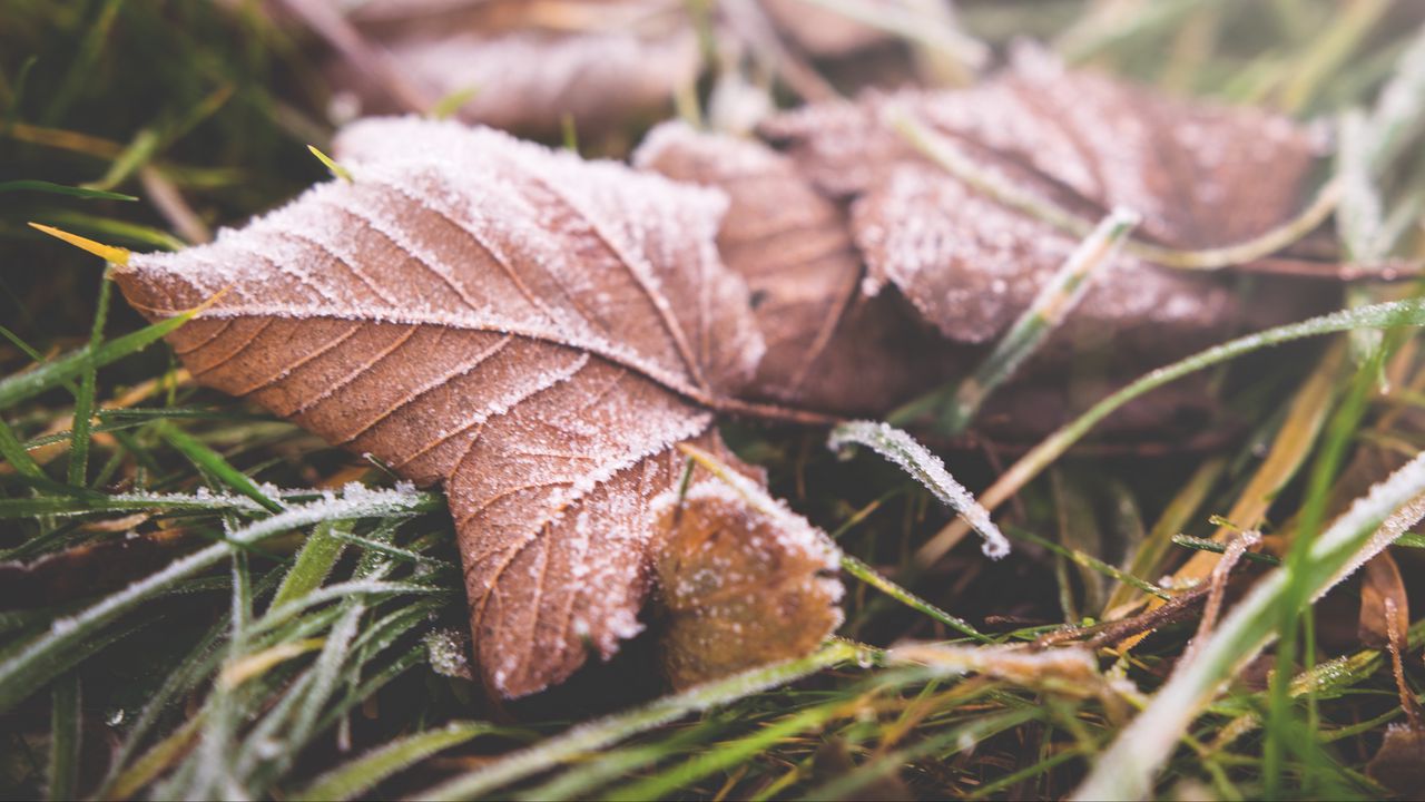
<svg viewBox="0 0 1425 802"><path fill-rule="evenodd" d="M67 665L68 651L83 646L103 626L134 609L148 598L164 592L172 582L192 577L228 558L239 547L325 519L415 515L442 509L439 497L406 488L365 489L331 501L292 507L271 518L249 524L228 535L228 539L175 559L167 568L140 579L127 588L104 597L84 611L54 621L50 631L26 644L24 648L0 661L0 712L7 712L24 701L37 684Z"/></svg>

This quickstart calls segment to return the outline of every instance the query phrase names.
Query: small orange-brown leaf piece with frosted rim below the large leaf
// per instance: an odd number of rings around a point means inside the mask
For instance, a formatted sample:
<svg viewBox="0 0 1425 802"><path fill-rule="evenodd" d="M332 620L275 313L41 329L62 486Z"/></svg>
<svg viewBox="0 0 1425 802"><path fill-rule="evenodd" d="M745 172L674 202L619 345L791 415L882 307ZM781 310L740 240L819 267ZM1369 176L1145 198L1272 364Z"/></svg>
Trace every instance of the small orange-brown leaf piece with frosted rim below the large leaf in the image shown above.
<svg viewBox="0 0 1425 802"><path fill-rule="evenodd" d="M835 547L755 488L714 478L665 497L658 532L675 688L807 654L841 625Z"/></svg>

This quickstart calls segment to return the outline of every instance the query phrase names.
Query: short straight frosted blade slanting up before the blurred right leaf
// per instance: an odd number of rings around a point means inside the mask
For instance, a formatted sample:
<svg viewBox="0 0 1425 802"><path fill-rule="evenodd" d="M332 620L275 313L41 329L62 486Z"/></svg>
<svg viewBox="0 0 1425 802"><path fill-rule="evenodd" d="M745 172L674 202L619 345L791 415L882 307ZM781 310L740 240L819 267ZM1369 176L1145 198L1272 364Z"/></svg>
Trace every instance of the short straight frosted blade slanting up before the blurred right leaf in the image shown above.
<svg viewBox="0 0 1425 802"><path fill-rule="evenodd" d="M1099 223L1079 247L1064 260L1063 265L1039 290L1035 301L999 340L995 350L985 357L975 372L959 382L933 391L922 400L912 401L892 412L886 421L892 425L911 422L922 411L940 410L940 431L959 434L979 412L985 398L1000 384L1010 380L1045 341L1079 305L1084 293L1093 284L1100 270L1113 263L1113 255L1123 245L1124 237L1139 224L1139 215L1127 210L1114 210ZM946 398L953 394L953 397Z"/></svg>

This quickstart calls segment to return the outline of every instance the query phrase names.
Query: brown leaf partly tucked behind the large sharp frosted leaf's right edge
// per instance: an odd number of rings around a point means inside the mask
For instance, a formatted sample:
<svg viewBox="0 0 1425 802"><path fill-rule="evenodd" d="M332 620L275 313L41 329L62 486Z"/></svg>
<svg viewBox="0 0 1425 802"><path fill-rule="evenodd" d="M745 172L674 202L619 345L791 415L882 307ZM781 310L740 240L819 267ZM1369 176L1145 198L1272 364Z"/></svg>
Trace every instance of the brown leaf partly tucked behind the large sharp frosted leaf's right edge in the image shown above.
<svg viewBox="0 0 1425 802"><path fill-rule="evenodd" d="M654 128L634 164L722 190L724 263L747 280L767 355L748 394L838 412L882 412L972 362L923 330L893 293L861 294L842 210L767 146Z"/></svg>

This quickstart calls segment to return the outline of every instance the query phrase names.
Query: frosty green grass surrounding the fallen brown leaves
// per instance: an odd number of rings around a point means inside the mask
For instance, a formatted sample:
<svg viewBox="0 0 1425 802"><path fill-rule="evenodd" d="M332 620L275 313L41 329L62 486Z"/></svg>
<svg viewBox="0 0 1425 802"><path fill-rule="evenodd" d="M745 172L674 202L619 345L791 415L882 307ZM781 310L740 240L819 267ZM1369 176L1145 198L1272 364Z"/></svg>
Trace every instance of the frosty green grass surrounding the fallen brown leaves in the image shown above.
<svg viewBox="0 0 1425 802"><path fill-rule="evenodd" d="M928 489L872 460L838 462L818 434L730 431L779 495L835 532L852 591L845 639L675 695L608 704L576 682L556 704L492 706L449 638L465 626L465 602L443 499L197 388L158 344L185 318L142 325L110 304L93 257L24 225L178 248L323 177L306 151L326 134L308 51L234 6L13 0L3 13L0 241L10 265L43 270L0 271L0 793L1391 792L1367 773L1384 728L1404 716L1387 658L1322 625L1349 624L1354 608L1340 598L1349 587L1322 594L1362 555L1394 538L1409 559L1425 542L1402 534L1425 491L1418 458L1394 475L1382 468L1425 444L1412 340L1425 304L1378 290L1153 371L1007 471L955 454L966 487L989 485L978 494L985 507L1007 508L1000 528L1019 542L995 564L949 548L953 531L931 535L956 525L935 504L942 484ZM1391 24L1412 16L1408 4L1054 6L1070 24L1060 40L1070 59L1301 116L1357 110L1325 184L1340 194L1302 218L1330 201L1352 260L1419 257L1409 233L1425 190L1409 146L1425 126L1425 40ZM1052 17L1035 3L968 4L963 24L999 44ZM969 63L975 44L916 47ZM1274 351L1273 362L1233 372L1268 345L1362 331L1378 335L1325 355ZM1032 340L1007 342L990 378ZM1124 402L1200 370L1221 371L1221 401L1251 432L1243 442L1150 467L1073 451ZM980 400L922 411L958 428ZM993 408L993 395L983 402ZM844 431L908 454L878 432ZM1123 554L1046 535L1069 509L1037 479L1052 465L1086 477L1069 524L1100 529L1093 542ZM1226 531L1213 514L1280 548L1244 555L1234 575L1251 591L1184 659L1198 597L1159 577L1224 548L1207 537ZM1113 537L1133 521L1141 532ZM150 557L115 557L130 551ZM1056 558L1090 574L1056 572ZM1109 591L1097 606L1084 577ZM43 595L13 599L7 587ZM1103 639L1113 632L1121 636ZM939 644L885 648L902 639ZM1032 651L1064 641L1087 645ZM1425 644L1425 619L1406 642ZM1231 681L1265 648L1275 649L1271 681ZM646 665L614 668L626 686L656 688ZM1405 681L1418 694L1418 666Z"/></svg>

